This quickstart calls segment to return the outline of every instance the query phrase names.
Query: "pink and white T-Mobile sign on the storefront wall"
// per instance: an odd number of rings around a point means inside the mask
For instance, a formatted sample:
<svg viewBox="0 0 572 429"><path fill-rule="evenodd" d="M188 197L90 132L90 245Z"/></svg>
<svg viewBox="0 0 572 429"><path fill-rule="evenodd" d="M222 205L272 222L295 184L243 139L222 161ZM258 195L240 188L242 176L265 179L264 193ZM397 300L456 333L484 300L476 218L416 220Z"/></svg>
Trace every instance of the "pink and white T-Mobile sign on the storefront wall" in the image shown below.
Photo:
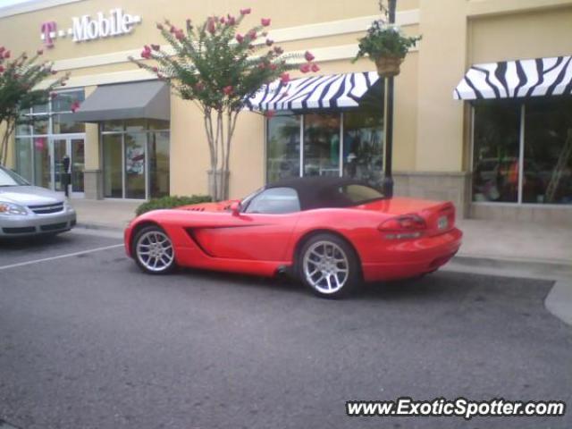
<svg viewBox="0 0 572 429"><path fill-rule="evenodd" d="M74 16L69 29L57 29L55 21L46 21L41 26L41 38L47 47L53 47L56 38L71 38L74 42L111 38L129 34L140 22L139 15L130 15L117 8L107 15L99 12L95 17Z"/></svg>

